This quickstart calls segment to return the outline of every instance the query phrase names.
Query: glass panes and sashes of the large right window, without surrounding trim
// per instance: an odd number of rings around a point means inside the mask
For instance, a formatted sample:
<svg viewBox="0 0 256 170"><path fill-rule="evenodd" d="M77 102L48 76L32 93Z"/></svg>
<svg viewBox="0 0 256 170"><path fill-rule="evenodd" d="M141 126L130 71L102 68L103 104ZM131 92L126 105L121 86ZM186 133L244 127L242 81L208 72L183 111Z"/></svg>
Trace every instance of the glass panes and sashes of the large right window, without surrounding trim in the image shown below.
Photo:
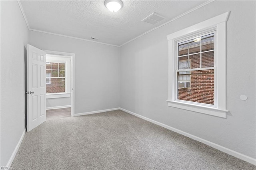
<svg viewBox="0 0 256 170"><path fill-rule="evenodd" d="M182 40L176 47L177 100L214 105L214 33Z"/></svg>

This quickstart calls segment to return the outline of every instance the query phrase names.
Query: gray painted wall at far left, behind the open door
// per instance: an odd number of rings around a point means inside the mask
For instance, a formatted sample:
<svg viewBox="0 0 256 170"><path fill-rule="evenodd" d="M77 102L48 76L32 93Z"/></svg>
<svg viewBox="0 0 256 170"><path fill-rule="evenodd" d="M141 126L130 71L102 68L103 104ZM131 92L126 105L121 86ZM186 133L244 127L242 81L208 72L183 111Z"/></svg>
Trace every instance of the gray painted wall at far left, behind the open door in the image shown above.
<svg viewBox="0 0 256 170"><path fill-rule="evenodd" d="M1 165L25 129L25 57L28 28L17 1L1 1Z"/></svg>

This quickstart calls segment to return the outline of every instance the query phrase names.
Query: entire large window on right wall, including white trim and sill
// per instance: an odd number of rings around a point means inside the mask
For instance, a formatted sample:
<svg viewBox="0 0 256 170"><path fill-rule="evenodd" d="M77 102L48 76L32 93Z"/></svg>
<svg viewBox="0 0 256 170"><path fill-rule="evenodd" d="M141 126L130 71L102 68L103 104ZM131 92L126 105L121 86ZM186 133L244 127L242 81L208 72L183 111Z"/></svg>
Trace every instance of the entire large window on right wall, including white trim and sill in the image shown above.
<svg viewBox="0 0 256 170"><path fill-rule="evenodd" d="M168 106L226 118L229 12L167 36Z"/></svg>

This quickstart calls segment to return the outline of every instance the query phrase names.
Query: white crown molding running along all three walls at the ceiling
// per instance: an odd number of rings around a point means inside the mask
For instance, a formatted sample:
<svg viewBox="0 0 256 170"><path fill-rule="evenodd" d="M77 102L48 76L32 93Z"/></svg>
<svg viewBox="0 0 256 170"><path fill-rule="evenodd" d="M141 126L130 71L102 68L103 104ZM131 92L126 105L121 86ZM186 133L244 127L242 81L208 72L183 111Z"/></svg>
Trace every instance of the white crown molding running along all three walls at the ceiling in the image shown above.
<svg viewBox="0 0 256 170"><path fill-rule="evenodd" d="M142 37L142 36L144 36L144 35L146 35L146 34L152 32L152 31L154 31L154 30L156 30L156 29L158 29L158 28L160 28L160 27L162 27L162 26L164 26L164 25L166 25L166 24L169 24L170 22L172 22L172 21L174 21L174 20L177 20L178 18L180 18L180 17L182 17L182 16L184 16L184 15L186 15L186 14L189 14L190 12L193 12L193 11L195 11L195 10L197 10L197 9L199 9L199 8L201 8L201 7L205 6L205 5L207 5L207 4L210 4L211 2L214 2L214 1L215 1L215 0L208 0L208 1L204 2L203 4L200 4L199 6L196 6L195 8L193 8L193 9L191 9L191 10L188 10L187 12L184 12L183 14L180 14L179 16L177 16L177 17L175 17L175 18L173 18L173 19L171 19L171 20L165 22L164 24L161 24L160 26L157 26L157 27L152 28L151 30L149 30L149 31L147 31L147 32L144 32L144 33L141 34L140 36L137 36L137 37L133 38L132 40L129 40L128 42L123 43L122 45L114 45L114 44L109 44L109 43L96 42L96 41L87 40L87 39L83 39L83 38L73 37L73 36L66 36L66 35L63 35L63 34L56 34L56 33L52 33L52 32L46 32L46 31L42 31L42 30L31 29L30 26L29 26L29 24L28 24L28 20L27 20L27 18L26 18L26 15L25 15L25 13L24 13L24 10L23 10L23 8L22 8L22 5L21 5L21 3L20 3L20 0L17 0L18 4L19 4L19 6L20 6L20 10L21 10L21 12L22 12L22 15L23 15L23 17L24 17L24 20L25 20L25 22L26 22L26 24L27 24L27 26L28 26L28 30L30 30L30 31L42 32L42 33L46 33L46 34L52 34L52 35L62 36L62 37L67 37L67 38L74 38L74 39L77 39L77 40L83 40L83 41L88 41L88 42L100 43L100 44L104 44L104 45L111 45L111 46L115 46L115 47L122 47L123 45L125 45L125 44L127 44L127 43L129 43L129 42L132 42L132 41L136 40L137 38L140 38L140 37Z"/></svg>

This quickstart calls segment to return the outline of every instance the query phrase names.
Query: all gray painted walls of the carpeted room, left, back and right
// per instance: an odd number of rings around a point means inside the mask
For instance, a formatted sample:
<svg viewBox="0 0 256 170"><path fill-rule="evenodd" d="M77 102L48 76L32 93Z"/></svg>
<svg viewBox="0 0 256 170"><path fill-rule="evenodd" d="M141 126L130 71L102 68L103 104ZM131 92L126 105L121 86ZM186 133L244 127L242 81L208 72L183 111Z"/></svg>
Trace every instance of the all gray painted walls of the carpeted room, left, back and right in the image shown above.
<svg viewBox="0 0 256 170"><path fill-rule="evenodd" d="M76 54L75 113L122 107L256 158L255 2L212 2L120 49L28 32L18 3L0 3L1 166L6 166L25 128L23 70L28 42L40 49ZM166 35L228 10L231 11L227 23L228 118L168 107ZM247 101L239 99L242 94L248 96Z"/></svg>

